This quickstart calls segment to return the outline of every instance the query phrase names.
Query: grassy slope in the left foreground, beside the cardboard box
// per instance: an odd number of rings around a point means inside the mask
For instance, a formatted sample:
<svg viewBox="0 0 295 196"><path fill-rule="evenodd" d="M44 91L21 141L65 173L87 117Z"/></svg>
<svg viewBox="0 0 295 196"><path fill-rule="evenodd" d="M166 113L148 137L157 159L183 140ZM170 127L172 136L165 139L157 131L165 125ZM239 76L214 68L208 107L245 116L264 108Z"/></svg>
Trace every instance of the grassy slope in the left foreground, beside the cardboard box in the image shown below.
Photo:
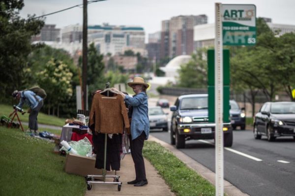
<svg viewBox="0 0 295 196"><path fill-rule="evenodd" d="M0 126L0 196L84 196L85 178L65 173L54 144Z"/></svg>

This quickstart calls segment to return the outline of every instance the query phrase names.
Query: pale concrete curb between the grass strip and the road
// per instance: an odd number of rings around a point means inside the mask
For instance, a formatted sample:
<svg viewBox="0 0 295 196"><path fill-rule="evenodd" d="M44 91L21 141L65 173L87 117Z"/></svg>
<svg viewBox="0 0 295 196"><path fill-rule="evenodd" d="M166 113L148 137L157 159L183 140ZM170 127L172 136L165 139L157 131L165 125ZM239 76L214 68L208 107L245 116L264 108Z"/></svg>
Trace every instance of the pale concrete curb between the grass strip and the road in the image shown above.
<svg viewBox="0 0 295 196"><path fill-rule="evenodd" d="M215 173L190 158L180 150L177 150L174 146L159 140L152 135L149 135L148 141L154 141L159 143L162 147L169 149L178 159L180 159L187 167L193 169L195 172L199 173L202 177L207 179L212 185L215 185ZM230 182L224 180L224 192L228 196L249 196L246 193L241 192L238 188L236 188Z"/></svg>

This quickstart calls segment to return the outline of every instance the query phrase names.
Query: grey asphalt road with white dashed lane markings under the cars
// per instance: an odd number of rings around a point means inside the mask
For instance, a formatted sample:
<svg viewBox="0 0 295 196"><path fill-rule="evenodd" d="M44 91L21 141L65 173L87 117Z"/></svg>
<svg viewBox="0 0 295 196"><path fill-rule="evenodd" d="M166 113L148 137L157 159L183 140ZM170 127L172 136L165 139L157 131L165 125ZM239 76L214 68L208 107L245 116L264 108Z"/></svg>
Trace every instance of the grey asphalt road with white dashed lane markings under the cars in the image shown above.
<svg viewBox="0 0 295 196"><path fill-rule="evenodd" d="M150 134L170 144L170 132L151 130ZM186 141L180 150L215 171L213 140ZM251 130L235 130L233 146L224 149L224 177L250 196L295 196L293 137L268 142L266 137L255 140Z"/></svg>

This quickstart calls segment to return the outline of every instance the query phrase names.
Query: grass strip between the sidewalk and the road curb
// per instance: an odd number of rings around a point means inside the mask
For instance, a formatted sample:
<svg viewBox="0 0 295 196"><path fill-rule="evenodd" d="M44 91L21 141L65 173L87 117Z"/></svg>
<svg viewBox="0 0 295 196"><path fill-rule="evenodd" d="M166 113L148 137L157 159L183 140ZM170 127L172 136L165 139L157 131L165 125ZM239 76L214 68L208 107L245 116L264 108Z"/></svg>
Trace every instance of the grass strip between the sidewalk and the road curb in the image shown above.
<svg viewBox="0 0 295 196"><path fill-rule="evenodd" d="M143 153L177 196L215 196L212 184L160 144L146 141Z"/></svg>

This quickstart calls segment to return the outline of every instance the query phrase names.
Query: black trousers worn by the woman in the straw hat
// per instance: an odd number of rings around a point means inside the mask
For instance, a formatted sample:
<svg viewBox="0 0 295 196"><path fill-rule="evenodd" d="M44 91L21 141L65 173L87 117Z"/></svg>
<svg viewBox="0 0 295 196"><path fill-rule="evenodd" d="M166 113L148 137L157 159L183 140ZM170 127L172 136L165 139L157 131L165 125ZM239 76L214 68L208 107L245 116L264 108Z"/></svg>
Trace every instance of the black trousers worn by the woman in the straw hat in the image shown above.
<svg viewBox="0 0 295 196"><path fill-rule="evenodd" d="M131 156L134 162L135 174L136 174L135 179L137 181L147 180L145 161L143 157L143 147L144 147L145 138L146 138L145 131L143 131L143 133L137 138L135 138L134 140L132 140L131 135L129 135Z"/></svg>

